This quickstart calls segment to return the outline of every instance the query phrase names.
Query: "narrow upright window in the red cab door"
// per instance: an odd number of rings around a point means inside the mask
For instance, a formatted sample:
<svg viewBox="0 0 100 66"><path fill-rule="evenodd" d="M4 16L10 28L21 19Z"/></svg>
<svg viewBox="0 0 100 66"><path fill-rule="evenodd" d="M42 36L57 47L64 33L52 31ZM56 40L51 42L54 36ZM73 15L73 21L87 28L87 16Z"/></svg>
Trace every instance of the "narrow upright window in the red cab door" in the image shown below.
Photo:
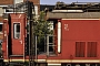
<svg viewBox="0 0 100 66"><path fill-rule="evenodd" d="M20 37L20 23L13 23L13 38Z"/></svg>

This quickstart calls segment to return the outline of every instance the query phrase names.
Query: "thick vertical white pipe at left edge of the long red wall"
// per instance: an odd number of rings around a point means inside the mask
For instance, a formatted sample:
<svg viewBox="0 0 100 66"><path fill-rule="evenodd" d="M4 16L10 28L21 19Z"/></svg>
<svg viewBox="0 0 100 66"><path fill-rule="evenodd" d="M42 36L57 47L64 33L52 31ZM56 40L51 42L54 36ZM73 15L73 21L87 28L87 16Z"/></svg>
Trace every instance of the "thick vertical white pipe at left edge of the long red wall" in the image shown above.
<svg viewBox="0 0 100 66"><path fill-rule="evenodd" d="M61 52L61 22L58 22L58 53Z"/></svg>

